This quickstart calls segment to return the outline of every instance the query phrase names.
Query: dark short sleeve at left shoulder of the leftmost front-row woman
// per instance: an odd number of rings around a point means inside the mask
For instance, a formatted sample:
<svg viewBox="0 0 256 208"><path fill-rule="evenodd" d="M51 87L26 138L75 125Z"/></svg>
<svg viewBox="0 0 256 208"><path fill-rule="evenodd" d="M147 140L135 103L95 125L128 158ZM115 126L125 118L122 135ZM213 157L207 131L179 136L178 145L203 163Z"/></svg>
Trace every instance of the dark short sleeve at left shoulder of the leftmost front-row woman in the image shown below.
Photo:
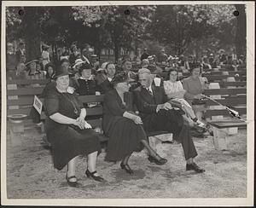
<svg viewBox="0 0 256 208"><path fill-rule="evenodd" d="M59 95L54 90L49 90L44 99L44 108L46 116L51 116L59 112Z"/></svg>

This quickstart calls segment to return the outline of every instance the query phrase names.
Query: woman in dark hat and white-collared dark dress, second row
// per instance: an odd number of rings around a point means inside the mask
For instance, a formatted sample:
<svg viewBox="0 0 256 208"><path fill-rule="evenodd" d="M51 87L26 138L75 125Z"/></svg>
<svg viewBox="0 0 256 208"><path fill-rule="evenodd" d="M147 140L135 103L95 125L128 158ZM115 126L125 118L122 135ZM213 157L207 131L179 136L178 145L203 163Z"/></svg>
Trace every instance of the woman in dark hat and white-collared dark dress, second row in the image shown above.
<svg viewBox="0 0 256 208"><path fill-rule="evenodd" d="M96 89L96 81L94 80L94 76L91 74L92 67L88 63L84 63L79 68L80 77L78 79L79 87L76 92L79 95L96 95L96 91L100 92Z"/></svg>

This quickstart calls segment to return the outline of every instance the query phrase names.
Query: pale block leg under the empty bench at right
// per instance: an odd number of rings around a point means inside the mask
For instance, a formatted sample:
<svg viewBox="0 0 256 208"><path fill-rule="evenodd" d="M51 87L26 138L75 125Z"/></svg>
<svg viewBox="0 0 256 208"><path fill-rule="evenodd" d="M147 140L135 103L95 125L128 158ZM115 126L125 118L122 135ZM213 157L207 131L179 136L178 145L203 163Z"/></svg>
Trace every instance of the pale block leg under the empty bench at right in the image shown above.
<svg viewBox="0 0 256 208"><path fill-rule="evenodd" d="M227 150L227 133L225 130L213 128L213 144L216 150Z"/></svg>

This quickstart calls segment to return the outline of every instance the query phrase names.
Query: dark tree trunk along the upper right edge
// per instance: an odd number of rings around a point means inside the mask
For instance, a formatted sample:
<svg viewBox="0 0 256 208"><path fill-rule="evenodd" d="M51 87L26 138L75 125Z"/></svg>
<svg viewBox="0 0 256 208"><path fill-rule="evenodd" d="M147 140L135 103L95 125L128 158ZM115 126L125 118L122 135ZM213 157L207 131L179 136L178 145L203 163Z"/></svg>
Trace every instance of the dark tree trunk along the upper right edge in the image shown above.
<svg viewBox="0 0 256 208"><path fill-rule="evenodd" d="M236 53L237 55L246 54L246 37L247 37L247 19L245 13L244 4L235 4L236 10L239 11L239 15L236 17Z"/></svg>

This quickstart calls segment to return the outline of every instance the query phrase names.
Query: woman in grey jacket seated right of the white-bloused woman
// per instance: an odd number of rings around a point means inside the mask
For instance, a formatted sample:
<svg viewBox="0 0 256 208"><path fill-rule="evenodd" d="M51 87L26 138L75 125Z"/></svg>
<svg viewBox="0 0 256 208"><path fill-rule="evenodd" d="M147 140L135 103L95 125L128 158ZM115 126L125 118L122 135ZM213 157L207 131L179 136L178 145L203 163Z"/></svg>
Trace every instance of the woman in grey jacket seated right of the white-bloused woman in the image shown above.
<svg viewBox="0 0 256 208"><path fill-rule="evenodd" d="M192 106L196 118L202 121L203 112L206 110L206 104L201 103L201 95L207 89L207 79L201 77L200 65L197 64L190 70L189 78L183 79L183 89L186 90L184 98Z"/></svg>

